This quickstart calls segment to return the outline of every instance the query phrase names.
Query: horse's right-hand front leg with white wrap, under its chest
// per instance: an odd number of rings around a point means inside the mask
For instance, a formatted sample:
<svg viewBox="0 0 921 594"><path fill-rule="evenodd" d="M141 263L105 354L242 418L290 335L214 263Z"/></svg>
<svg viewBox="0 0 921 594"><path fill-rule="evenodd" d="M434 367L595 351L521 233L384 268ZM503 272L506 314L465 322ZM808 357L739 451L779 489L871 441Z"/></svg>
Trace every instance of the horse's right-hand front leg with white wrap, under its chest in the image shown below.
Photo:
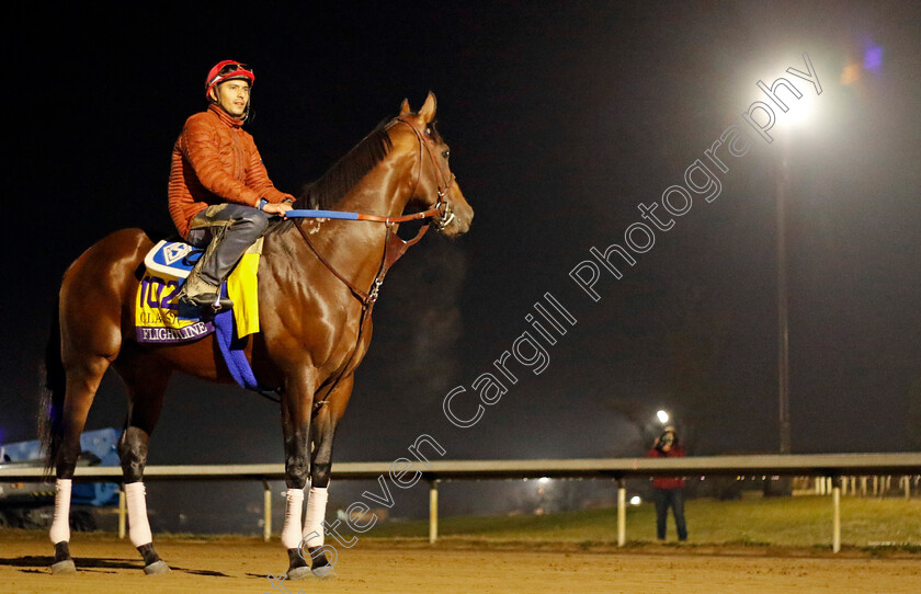
<svg viewBox="0 0 921 594"><path fill-rule="evenodd" d="M302 557L310 557L311 570L317 578L334 578L332 563L326 556L323 546L323 519L326 517L327 499L329 493L330 470L332 468L332 442L336 427L349 397L352 395L353 376L342 378L330 392L323 404L314 415L311 422L312 453L310 457L310 494L307 500L307 514L304 517L304 540ZM332 549L336 555L336 549Z"/></svg>

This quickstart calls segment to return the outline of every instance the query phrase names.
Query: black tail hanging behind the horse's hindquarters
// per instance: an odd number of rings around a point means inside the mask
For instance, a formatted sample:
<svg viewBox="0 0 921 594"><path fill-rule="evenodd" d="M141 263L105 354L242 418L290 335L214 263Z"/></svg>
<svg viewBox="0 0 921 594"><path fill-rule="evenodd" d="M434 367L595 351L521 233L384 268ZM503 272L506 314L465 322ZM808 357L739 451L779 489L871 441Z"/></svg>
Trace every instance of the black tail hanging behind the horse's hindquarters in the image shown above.
<svg viewBox="0 0 921 594"><path fill-rule="evenodd" d="M60 356L60 298L55 299L52 329L45 346L45 363L42 365L41 398L38 403L38 439L45 453L45 472L55 466L58 449L64 437L64 393L66 376Z"/></svg>

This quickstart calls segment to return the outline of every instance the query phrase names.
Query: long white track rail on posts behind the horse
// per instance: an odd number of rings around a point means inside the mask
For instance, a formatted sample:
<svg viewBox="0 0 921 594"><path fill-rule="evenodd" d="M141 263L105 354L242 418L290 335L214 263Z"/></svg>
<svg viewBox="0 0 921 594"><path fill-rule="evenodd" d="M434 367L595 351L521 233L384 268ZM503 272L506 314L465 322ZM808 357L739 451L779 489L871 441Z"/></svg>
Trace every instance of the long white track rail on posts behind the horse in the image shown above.
<svg viewBox="0 0 921 594"><path fill-rule="evenodd" d="M376 480L387 477L391 462L337 462L336 480ZM614 479L617 481L617 544L626 542L624 479L636 477L694 476L812 476L832 480L832 550L841 548L841 484L846 476L921 475L921 453L905 454L806 454L755 456L692 456L689 458L573 458L537 460L439 460L418 461L402 472L421 472L430 488L429 540L437 538L437 488L446 480L484 479ZM36 482L46 477L42 468L0 465L0 482ZM258 480L265 488L265 540L271 535L271 493L269 481L284 480L284 465L181 465L148 466L145 481L161 480ZM77 467L75 482L120 482L120 467ZM906 490L910 489L906 481ZM120 536L124 536L124 490L122 491Z"/></svg>

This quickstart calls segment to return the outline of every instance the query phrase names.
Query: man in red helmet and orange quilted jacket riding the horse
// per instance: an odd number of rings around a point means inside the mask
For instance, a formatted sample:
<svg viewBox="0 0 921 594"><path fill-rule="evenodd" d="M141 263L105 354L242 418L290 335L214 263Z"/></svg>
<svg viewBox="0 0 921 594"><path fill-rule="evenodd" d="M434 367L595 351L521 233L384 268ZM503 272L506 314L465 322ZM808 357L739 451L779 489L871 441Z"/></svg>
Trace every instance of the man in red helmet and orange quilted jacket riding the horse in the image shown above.
<svg viewBox="0 0 921 594"><path fill-rule="evenodd" d="M205 80L208 108L185 122L172 152L170 215L183 239L205 248L180 300L229 307L220 285L243 252L265 231L270 215L284 217L294 196L275 189L252 136L242 129L250 110L252 68L219 61Z"/></svg>

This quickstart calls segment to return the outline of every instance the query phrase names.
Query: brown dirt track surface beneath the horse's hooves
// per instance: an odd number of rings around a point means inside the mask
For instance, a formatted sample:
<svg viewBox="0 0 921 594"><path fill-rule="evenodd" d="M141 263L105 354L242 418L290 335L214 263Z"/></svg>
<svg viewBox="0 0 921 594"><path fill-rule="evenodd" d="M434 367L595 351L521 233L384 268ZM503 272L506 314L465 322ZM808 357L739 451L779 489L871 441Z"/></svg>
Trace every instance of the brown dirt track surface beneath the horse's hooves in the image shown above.
<svg viewBox="0 0 921 594"><path fill-rule="evenodd" d="M770 551L723 552L674 547L623 551L477 550L446 544L360 542L340 549L333 581L281 582L286 557L277 541L254 538L161 538L155 541L172 567L148 576L127 540L77 534L71 541L78 573L53 576L52 546L44 534L0 535L0 592L247 592L283 593L518 593L576 592L681 594L917 593L921 558L873 559L866 555L784 556ZM783 555L783 553L781 553ZM284 590L282 590L284 587Z"/></svg>

